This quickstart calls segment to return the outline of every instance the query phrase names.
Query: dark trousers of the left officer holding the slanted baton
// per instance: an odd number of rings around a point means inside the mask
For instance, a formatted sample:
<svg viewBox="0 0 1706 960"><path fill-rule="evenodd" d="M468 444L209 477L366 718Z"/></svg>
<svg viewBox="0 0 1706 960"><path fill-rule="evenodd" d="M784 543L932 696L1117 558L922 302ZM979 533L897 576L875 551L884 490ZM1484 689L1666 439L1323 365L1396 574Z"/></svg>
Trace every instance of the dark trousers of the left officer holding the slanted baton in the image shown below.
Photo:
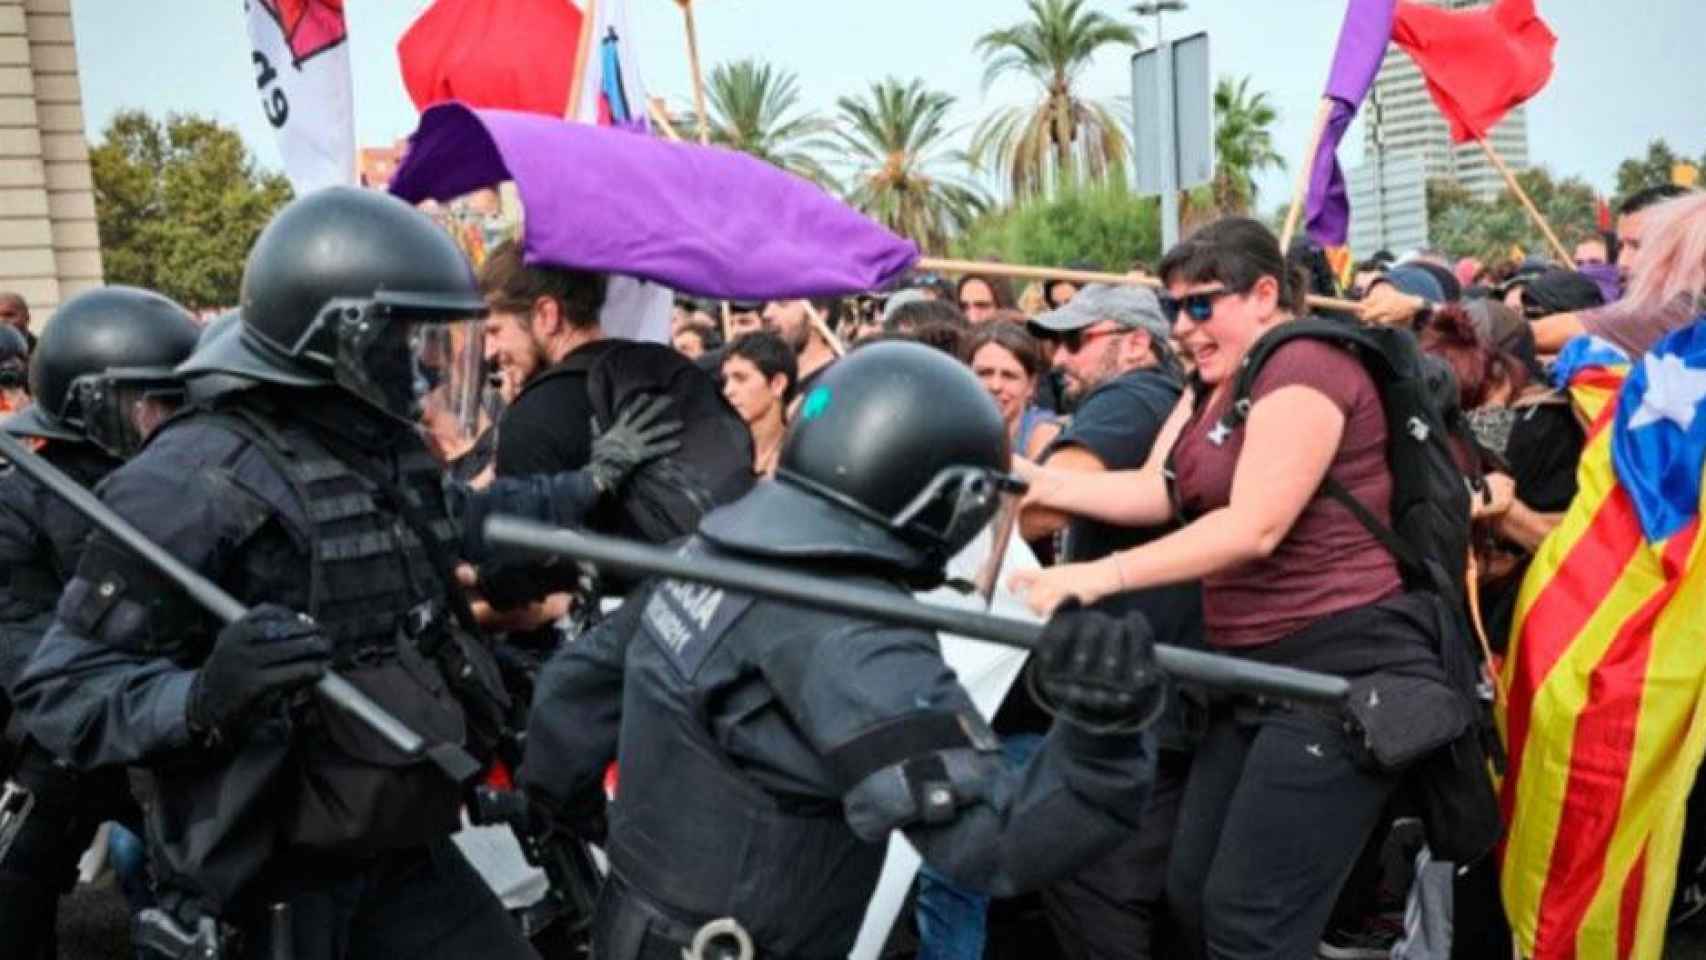
<svg viewBox="0 0 1706 960"><path fill-rule="evenodd" d="M399 851L287 900L290 946L276 950L270 917L237 921L247 960L539 960L449 837Z"/></svg>

